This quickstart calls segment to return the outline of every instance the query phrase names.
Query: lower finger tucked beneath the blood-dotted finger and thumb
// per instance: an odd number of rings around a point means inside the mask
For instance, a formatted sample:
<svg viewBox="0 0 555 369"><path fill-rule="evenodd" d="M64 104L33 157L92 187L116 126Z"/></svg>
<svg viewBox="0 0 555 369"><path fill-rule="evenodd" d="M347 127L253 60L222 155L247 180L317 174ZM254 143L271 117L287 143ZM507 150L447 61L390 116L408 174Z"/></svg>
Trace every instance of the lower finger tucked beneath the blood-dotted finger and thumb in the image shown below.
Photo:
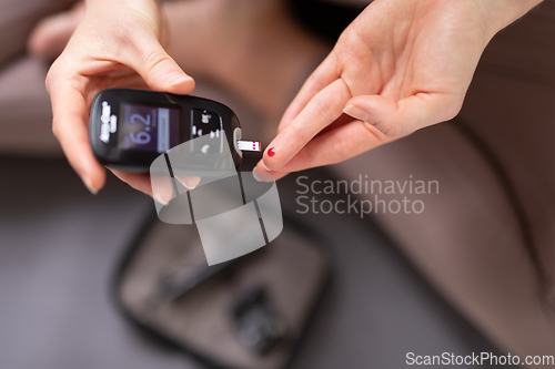
<svg viewBox="0 0 555 369"><path fill-rule="evenodd" d="M340 163L392 140L367 123L354 121L314 137L279 173ZM262 162L255 171L273 174L264 168Z"/></svg>

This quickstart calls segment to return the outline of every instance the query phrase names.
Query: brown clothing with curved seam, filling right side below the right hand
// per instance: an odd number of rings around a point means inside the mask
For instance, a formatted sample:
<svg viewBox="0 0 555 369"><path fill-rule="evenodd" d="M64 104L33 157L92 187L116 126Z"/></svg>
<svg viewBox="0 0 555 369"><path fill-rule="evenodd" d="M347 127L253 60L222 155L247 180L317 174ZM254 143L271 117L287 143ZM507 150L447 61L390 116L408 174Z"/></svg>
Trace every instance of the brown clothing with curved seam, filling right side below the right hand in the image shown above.
<svg viewBox="0 0 555 369"><path fill-rule="evenodd" d="M352 180L438 181L438 194L408 196L424 201L423 214L375 217L461 311L523 359L555 352L554 40L546 1L492 41L455 120L507 178L453 122L336 166Z"/></svg>

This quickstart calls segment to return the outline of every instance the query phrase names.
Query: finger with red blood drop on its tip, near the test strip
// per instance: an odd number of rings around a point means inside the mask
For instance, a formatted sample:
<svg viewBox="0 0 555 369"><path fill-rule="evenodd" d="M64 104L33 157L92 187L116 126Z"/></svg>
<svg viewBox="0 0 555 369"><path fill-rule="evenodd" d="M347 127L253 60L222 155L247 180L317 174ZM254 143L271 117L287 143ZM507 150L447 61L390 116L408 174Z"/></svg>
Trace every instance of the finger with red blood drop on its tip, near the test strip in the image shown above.
<svg viewBox="0 0 555 369"><path fill-rule="evenodd" d="M342 79L320 91L268 146L262 158L266 170L281 171L320 131L343 114L350 99L351 92Z"/></svg>

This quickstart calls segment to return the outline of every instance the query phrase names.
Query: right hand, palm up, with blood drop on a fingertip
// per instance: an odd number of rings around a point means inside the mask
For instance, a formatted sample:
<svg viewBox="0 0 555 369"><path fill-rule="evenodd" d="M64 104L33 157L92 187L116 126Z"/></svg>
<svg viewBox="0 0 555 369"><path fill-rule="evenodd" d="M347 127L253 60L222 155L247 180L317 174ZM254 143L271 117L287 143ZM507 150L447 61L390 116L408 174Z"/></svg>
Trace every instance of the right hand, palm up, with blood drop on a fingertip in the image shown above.
<svg viewBox="0 0 555 369"><path fill-rule="evenodd" d="M453 119L488 41L539 0L375 0L282 117L255 172L334 164Z"/></svg>

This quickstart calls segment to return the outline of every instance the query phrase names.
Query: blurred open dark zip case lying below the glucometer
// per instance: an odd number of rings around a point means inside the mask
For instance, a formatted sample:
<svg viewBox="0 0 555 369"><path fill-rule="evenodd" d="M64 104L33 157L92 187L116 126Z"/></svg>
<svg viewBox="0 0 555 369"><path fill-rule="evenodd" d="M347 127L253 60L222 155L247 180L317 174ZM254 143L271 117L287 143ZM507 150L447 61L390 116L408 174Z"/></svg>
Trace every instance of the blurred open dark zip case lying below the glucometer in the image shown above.
<svg viewBox="0 0 555 369"><path fill-rule="evenodd" d="M143 229L119 267L113 290L133 324L210 368L289 367L330 277L325 244L316 233L285 216L283 233L268 246L229 266L209 267L195 227L152 217ZM164 291L169 278L194 280L214 267L221 270L178 297ZM248 347L240 330L253 306L263 319L278 319L281 330L274 329L275 340Z"/></svg>

